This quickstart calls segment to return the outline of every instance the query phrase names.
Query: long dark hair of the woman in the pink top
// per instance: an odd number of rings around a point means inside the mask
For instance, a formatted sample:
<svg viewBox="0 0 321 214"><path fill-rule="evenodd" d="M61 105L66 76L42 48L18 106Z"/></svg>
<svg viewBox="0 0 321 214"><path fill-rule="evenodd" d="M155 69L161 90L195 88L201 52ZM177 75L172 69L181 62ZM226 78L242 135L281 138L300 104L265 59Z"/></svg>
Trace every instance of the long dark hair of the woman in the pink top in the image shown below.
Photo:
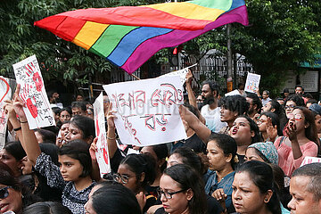
<svg viewBox="0 0 321 214"><path fill-rule="evenodd" d="M314 119L314 116L311 111L309 111L307 108L302 107L302 106L296 106L294 107L293 110L299 109L300 111L303 112L304 114L304 122L305 124L309 123L309 127L305 128L305 136L310 140L316 143L318 146L318 138L317 138L317 127L316 127L316 122Z"/></svg>

